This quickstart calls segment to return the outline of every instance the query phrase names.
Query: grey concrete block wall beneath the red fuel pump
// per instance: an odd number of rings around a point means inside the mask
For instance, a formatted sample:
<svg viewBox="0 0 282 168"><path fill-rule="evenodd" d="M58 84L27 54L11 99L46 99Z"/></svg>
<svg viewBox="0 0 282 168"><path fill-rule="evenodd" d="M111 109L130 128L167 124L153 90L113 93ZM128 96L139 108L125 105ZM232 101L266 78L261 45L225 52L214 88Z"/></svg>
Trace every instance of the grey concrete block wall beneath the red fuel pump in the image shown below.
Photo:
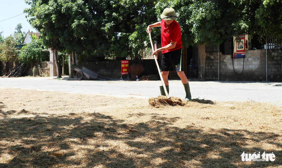
<svg viewBox="0 0 282 168"><path fill-rule="evenodd" d="M282 81L282 49L268 49L267 53L268 80ZM201 80L218 80L218 53L206 53L202 57L200 59L199 54L199 62L202 66L202 68L199 68L199 74L201 74L199 78ZM232 55L223 55L222 53L219 54L219 57L220 80L266 80L265 49L246 51L245 58L233 58L232 60ZM203 67L205 68L203 69Z"/></svg>

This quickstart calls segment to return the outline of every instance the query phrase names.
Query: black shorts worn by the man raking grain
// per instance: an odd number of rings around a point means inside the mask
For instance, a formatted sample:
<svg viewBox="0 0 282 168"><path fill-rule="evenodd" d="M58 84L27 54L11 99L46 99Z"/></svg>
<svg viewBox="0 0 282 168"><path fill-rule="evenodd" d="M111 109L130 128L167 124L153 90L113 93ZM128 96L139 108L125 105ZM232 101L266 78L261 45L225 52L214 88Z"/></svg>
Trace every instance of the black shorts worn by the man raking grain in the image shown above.
<svg viewBox="0 0 282 168"><path fill-rule="evenodd" d="M182 60L182 48L162 54L161 71L184 71Z"/></svg>

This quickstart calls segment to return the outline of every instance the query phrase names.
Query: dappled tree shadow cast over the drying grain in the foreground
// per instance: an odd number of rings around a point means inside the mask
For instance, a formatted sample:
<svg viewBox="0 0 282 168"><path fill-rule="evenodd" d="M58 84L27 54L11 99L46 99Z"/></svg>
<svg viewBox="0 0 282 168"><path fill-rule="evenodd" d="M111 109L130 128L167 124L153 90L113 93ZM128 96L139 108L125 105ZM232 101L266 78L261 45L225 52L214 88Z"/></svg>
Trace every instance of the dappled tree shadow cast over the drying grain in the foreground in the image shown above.
<svg viewBox="0 0 282 168"><path fill-rule="evenodd" d="M30 113L25 111L25 113ZM138 114L144 115L144 114ZM99 113L4 118L0 167L266 167L281 166L280 150L246 148L279 135L173 126L178 117L151 114L136 125ZM282 147L281 143L274 144ZM242 162L242 152L274 153L274 162ZM61 153L63 156L50 156Z"/></svg>

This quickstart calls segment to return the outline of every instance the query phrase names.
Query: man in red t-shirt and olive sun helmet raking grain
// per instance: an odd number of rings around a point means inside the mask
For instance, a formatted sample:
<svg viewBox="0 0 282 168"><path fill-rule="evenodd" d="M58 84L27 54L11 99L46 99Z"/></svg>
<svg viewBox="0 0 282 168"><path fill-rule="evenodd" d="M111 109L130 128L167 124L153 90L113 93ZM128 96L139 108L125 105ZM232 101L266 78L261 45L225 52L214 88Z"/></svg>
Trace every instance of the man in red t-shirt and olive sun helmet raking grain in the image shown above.
<svg viewBox="0 0 282 168"><path fill-rule="evenodd" d="M156 49L152 55L157 56L158 52L162 51L161 71L167 91L169 92L168 73L173 68L184 86L186 92L185 100L190 101L190 87L181 62L182 42L180 26L175 21L177 14L173 8L165 8L160 17L162 21L149 25L146 30L149 33L152 31L151 28L161 27L162 48ZM160 92L161 95L165 95L163 86L160 86Z"/></svg>

